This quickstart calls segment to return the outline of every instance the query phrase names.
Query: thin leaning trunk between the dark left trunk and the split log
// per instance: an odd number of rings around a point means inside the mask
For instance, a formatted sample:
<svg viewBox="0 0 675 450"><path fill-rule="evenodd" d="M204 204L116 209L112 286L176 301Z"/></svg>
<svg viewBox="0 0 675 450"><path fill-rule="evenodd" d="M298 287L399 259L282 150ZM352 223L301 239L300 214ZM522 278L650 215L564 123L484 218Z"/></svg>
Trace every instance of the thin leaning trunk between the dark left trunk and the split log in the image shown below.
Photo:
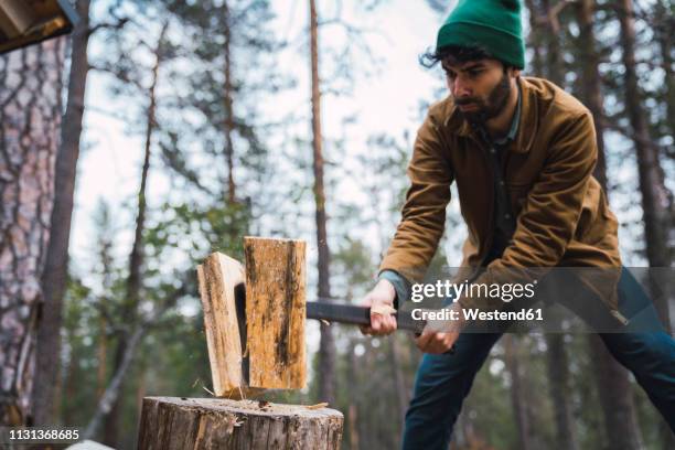
<svg viewBox="0 0 675 450"><path fill-rule="evenodd" d="M159 81L159 69L162 64L163 56L163 44L164 36L167 33L168 23L164 23L160 36L154 49L154 64L152 66L151 83L148 87L149 105L147 109L146 118L146 140L144 140L144 158L143 167L141 170L141 183L138 191L138 213L136 216L136 229L133 236L133 244L131 246L131 254L129 256L129 276L127 278L126 298L122 308L121 323L132 324L136 323L138 318L138 304L140 300L141 289L141 277L143 266L143 231L146 227L146 210L147 210L147 183L148 173L150 171L150 156L152 149L152 136L157 128L156 121L156 108L157 108L157 85ZM117 374L120 367L125 364L126 355L129 353L128 347L130 340L128 336L121 335L117 343L115 351L114 373ZM106 418L106 428L104 441L111 447L116 447L117 439L119 437L118 431L118 418L120 414L121 401L117 395L117 390L122 390L122 381L126 371L121 372L119 381L120 386L116 388L116 395L114 396L110 408L105 408L104 416ZM115 378L114 378L115 381ZM104 398L106 394L104 394ZM103 400L101 400L103 401Z"/></svg>

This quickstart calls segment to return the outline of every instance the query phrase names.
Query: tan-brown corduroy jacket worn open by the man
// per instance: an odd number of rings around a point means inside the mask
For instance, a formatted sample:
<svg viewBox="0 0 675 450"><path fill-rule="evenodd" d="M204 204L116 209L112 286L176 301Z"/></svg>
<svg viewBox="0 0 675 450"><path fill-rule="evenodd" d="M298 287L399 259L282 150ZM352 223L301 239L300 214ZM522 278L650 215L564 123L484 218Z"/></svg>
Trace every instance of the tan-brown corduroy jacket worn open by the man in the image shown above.
<svg viewBox="0 0 675 450"><path fill-rule="evenodd" d="M592 176L598 148L590 111L550 82L519 77L518 83L518 131L502 165L516 229L502 257L474 282L495 281L491 277L504 268L621 267L617 217ZM451 97L429 108L408 165L403 217L381 271L422 279L444 229L452 182L469 228L461 267L481 266L495 223L494 180L481 146ZM599 293L617 309L615 283Z"/></svg>

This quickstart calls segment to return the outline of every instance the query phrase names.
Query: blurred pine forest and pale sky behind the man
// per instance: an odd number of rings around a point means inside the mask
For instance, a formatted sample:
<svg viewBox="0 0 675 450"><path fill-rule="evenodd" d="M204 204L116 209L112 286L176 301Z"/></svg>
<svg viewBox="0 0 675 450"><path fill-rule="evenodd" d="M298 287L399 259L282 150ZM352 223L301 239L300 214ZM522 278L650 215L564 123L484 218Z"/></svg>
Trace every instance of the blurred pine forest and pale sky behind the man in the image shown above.
<svg viewBox="0 0 675 450"><path fill-rule="evenodd" d="M0 426L136 448L143 397L211 397L195 268L244 236L307 242L308 300L358 303L400 218L419 56L456 1L72 0L74 31L0 55ZM628 267L675 265L675 3L524 0L526 67L592 113ZM456 267L457 191L433 267ZM673 334L669 304L655 307ZM306 389L343 449L394 449L409 333L308 321ZM453 450L673 450L594 334L505 334Z"/></svg>

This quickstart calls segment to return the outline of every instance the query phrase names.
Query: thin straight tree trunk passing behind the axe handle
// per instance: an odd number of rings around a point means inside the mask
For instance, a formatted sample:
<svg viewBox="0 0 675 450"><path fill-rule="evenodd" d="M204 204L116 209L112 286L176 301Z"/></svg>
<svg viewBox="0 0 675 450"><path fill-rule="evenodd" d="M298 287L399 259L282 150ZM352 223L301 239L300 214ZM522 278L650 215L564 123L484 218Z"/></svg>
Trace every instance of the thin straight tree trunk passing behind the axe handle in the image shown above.
<svg viewBox="0 0 675 450"><path fill-rule="evenodd" d="M312 79L312 149L314 171L314 203L317 206L317 246L319 250L319 299L331 298L330 250L328 245L325 193L323 190L323 150L321 136L321 90L319 79L319 36L317 3L310 4L310 60ZM335 342L329 325L321 323L321 342L319 344L319 398L333 404L335 400Z"/></svg>

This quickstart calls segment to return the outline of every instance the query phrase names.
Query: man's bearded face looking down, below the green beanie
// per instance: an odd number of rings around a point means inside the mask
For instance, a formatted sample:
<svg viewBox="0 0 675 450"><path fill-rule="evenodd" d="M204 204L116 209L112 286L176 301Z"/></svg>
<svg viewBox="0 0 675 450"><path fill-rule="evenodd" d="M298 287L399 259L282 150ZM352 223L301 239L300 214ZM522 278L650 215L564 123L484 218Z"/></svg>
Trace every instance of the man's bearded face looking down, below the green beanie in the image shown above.
<svg viewBox="0 0 675 450"><path fill-rule="evenodd" d="M469 124L484 126L505 108L511 95L511 71L496 60L442 62L454 104Z"/></svg>

